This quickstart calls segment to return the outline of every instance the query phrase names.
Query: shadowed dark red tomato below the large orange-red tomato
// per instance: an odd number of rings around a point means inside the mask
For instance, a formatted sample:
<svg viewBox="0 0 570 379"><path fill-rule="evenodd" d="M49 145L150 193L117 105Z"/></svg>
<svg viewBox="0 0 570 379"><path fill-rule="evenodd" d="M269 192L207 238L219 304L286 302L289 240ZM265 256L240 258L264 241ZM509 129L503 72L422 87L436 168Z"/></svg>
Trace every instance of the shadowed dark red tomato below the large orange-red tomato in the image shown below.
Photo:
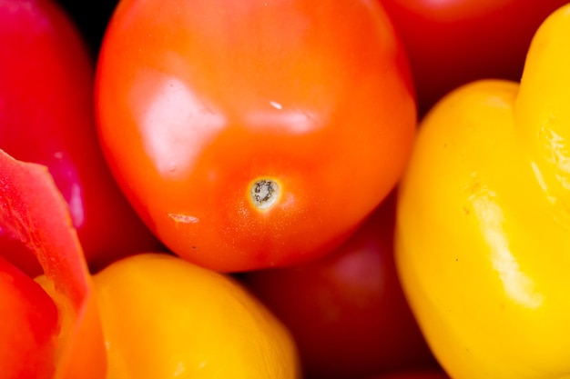
<svg viewBox="0 0 570 379"><path fill-rule="evenodd" d="M435 365L396 273L394 203L319 261L239 276L290 329L308 378Z"/></svg>

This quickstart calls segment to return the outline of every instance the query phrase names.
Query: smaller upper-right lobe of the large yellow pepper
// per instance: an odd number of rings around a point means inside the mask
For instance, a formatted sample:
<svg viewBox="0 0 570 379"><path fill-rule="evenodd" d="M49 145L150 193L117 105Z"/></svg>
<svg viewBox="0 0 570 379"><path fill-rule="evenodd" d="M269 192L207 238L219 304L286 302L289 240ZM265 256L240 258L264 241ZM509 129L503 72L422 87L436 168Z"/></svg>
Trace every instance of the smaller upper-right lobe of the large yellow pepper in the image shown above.
<svg viewBox="0 0 570 379"><path fill-rule="evenodd" d="M534 35L514 105L517 134L560 222L570 230L570 6Z"/></svg>

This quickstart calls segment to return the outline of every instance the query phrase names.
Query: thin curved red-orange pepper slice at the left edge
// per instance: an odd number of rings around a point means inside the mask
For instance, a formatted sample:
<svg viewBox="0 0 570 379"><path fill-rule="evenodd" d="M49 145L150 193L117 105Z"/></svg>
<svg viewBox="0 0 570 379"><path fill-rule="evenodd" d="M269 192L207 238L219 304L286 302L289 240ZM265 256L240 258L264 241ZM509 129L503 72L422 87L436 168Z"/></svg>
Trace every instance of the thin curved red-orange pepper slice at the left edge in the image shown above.
<svg viewBox="0 0 570 379"><path fill-rule="evenodd" d="M44 286L57 306L51 377L105 377L105 344L93 284L66 201L46 166L17 161L2 150L0 225L36 254L44 269Z"/></svg>

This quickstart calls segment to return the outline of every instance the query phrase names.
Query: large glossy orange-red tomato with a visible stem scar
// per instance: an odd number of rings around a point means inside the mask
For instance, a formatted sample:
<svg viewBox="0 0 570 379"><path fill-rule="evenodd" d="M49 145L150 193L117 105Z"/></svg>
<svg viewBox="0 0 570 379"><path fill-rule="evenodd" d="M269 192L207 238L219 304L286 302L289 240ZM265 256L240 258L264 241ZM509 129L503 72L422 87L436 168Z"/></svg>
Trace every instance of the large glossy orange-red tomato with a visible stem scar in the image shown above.
<svg viewBox="0 0 570 379"><path fill-rule="evenodd" d="M107 161L196 264L309 261L402 175L416 114L401 47L365 0L124 0L97 72Z"/></svg>

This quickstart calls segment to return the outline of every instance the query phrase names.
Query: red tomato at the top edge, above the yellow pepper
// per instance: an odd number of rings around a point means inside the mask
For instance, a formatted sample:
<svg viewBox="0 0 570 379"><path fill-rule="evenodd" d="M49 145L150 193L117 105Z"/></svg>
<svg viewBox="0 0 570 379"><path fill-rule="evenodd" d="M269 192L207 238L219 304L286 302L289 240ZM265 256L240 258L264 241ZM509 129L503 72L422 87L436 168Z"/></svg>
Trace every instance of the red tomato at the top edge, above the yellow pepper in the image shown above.
<svg viewBox="0 0 570 379"><path fill-rule="evenodd" d="M420 114L459 85L520 80L531 39L568 0L379 0L412 65Z"/></svg>

